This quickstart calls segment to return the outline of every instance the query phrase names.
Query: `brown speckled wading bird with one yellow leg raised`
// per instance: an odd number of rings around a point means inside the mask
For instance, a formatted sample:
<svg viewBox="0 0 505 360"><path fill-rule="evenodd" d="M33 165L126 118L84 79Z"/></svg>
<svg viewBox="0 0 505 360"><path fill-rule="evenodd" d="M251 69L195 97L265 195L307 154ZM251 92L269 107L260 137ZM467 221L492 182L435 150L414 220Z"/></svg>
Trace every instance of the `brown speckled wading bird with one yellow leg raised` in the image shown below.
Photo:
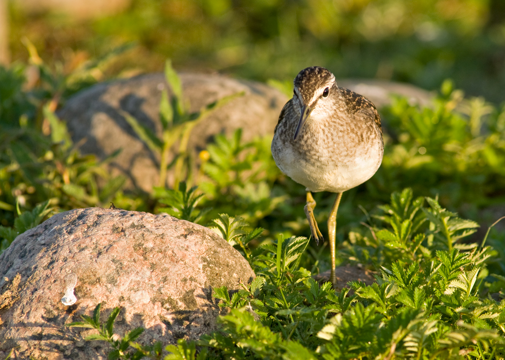
<svg viewBox="0 0 505 360"><path fill-rule="evenodd" d="M330 281L336 288L335 233L342 193L372 177L382 162L384 142L375 105L339 87L323 67L301 70L293 81L274 130L271 151L279 169L306 187L305 214L312 238L324 241L314 217L313 192L336 193L328 215Z"/></svg>

